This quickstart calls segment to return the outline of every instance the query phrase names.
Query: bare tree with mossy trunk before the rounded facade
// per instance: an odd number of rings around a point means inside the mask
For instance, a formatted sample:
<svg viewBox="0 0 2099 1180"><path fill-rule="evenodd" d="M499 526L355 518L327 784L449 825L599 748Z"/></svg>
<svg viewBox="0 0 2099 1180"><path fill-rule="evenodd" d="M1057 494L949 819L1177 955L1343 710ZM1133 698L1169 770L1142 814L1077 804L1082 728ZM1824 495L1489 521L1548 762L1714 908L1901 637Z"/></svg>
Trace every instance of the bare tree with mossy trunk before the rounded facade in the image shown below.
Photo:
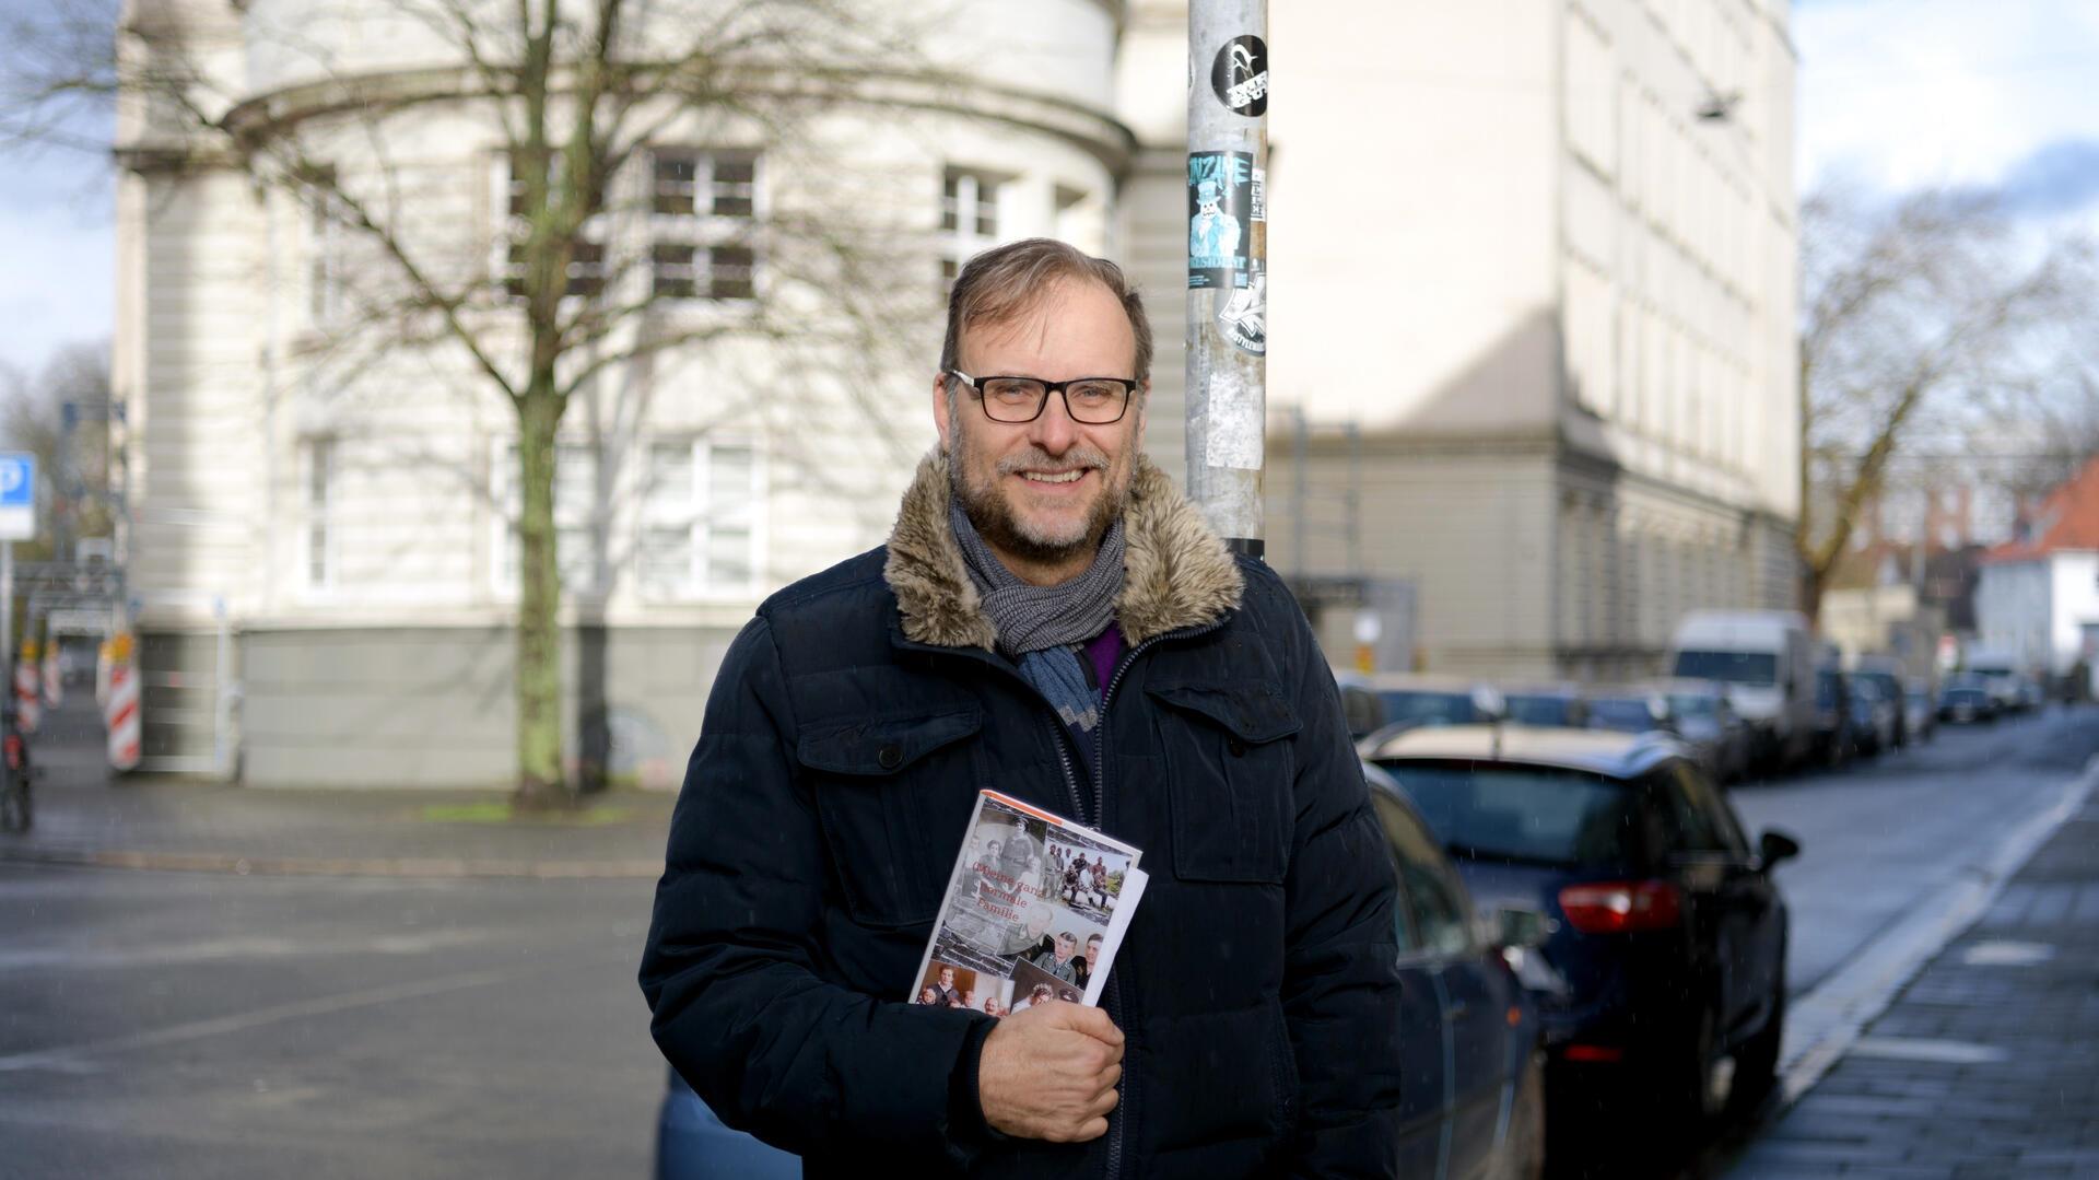
<svg viewBox="0 0 2099 1180"><path fill-rule="evenodd" d="M235 166L260 191L306 210L317 248L309 288L330 300L323 353L338 376L422 353L432 372L466 370L516 422L516 802L571 802L560 737L560 563L556 435L571 407L609 380L670 355L768 342L777 384L863 397L894 363L903 325L928 321L932 275L898 283L924 241L856 202L850 183L770 208L751 204L751 164L714 162L716 199L743 202L747 227L712 248L665 248L646 233L655 202L680 199L693 162L665 162L665 132L693 143L735 128L770 155L823 147L802 130L869 80L938 88L913 55L913 29L861 0L355 0L296 6L365 42L422 38L430 65L338 65L340 38L271 25L267 4L61 0L17 29L17 67L0 88L0 130L55 136L80 103L113 101L120 162L134 170ZM900 6L898 6L900 8ZM936 19L915 10L913 21ZM105 40L97 40L103 36ZM27 38L27 40L23 40ZM241 52L296 57L313 78L296 94L250 99ZM113 52L111 52L113 48ZM411 111L445 111L481 134L504 174L500 241L432 225L443 208L428 170L397 141ZM724 181L726 176L726 181ZM724 195L726 193L726 195ZM682 199L691 204L691 193ZM659 210L657 210L659 212ZM434 218L443 220L443 216ZM917 252L911 248L917 246ZM678 311L697 296L705 315ZM728 311L722 311L728 309ZM833 357L829 372L796 357ZM353 382L336 382L353 384ZM726 399L724 399L726 401ZM892 447L892 416L869 439ZM472 472L464 472L472 477ZM602 554L600 554L602 556Z"/></svg>

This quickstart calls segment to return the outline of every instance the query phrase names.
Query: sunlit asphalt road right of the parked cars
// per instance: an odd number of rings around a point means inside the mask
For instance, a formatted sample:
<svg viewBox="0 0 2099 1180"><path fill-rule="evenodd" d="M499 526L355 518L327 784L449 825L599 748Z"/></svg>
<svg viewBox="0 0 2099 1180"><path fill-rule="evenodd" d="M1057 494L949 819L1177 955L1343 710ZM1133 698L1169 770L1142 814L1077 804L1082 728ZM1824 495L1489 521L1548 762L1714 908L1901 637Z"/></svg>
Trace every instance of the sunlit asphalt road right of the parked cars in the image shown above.
<svg viewBox="0 0 2099 1180"><path fill-rule="evenodd" d="M1971 873L2099 754L2099 710L2051 705L1939 726L1927 745L1730 792L1751 840L1801 840L1778 869L1793 913L1786 983L1807 991L1916 903Z"/></svg>

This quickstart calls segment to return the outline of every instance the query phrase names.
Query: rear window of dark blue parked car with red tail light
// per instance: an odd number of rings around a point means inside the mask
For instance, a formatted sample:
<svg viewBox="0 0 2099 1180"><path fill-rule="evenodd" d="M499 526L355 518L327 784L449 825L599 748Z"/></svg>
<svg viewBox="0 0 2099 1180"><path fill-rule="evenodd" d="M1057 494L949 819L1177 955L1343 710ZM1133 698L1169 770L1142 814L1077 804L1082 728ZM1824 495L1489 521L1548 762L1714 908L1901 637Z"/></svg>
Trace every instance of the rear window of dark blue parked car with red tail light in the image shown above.
<svg viewBox="0 0 2099 1180"><path fill-rule="evenodd" d="M1543 865L1625 861L1631 792L1549 766L1379 762L1453 852Z"/></svg>

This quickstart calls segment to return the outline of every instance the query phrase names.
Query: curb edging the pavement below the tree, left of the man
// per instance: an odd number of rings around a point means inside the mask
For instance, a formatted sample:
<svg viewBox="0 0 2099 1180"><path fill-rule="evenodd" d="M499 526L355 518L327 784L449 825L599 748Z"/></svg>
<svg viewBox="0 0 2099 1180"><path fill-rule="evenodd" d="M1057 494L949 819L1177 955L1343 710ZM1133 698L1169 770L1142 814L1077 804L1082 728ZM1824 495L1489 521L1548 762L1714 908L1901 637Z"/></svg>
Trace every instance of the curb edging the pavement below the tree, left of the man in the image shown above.
<svg viewBox="0 0 2099 1180"><path fill-rule="evenodd" d="M231 852L139 852L120 848L0 848L0 863L267 878L531 878L657 880L663 861L521 861L458 857L237 857Z"/></svg>

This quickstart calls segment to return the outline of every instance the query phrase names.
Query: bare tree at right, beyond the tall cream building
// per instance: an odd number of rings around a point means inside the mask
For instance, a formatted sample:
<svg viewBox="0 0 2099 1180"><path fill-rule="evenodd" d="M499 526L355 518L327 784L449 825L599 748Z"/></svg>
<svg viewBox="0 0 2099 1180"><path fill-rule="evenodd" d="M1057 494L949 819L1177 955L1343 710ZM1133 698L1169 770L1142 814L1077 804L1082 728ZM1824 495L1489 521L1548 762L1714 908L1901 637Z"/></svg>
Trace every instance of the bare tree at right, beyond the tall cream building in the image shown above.
<svg viewBox="0 0 2099 1180"><path fill-rule="evenodd" d="M2036 239L1988 193L1801 202L1801 605L1814 615L1860 525L1916 447L1990 449L2074 376L2091 246Z"/></svg>

